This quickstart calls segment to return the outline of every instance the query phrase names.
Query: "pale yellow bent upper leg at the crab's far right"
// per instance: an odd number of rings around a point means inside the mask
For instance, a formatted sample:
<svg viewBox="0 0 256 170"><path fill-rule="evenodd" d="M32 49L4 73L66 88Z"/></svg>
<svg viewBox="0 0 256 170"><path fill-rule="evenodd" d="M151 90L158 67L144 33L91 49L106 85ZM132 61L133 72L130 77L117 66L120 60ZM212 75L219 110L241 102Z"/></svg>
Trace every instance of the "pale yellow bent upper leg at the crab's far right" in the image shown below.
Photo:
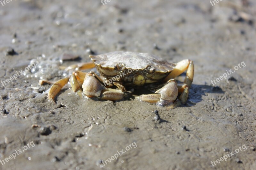
<svg viewBox="0 0 256 170"><path fill-rule="evenodd" d="M194 63L189 59L182 60L179 63L177 63L174 70L166 78L164 78L164 81L168 81L171 78L175 78L186 70L187 74L186 78L184 79L184 83L187 84L188 87L190 87L194 78Z"/></svg>

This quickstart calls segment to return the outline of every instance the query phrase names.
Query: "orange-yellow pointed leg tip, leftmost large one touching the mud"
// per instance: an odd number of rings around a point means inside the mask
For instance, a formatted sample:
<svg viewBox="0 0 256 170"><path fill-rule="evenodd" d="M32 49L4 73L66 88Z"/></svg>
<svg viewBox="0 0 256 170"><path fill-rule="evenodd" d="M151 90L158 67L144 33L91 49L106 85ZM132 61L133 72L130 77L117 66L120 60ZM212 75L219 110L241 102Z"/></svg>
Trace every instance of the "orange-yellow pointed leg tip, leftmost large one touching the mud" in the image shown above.
<svg viewBox="0 0 256 170"><path fill-rule="evenodd" d="M48 99L55 102L54 100L55 96L60 92L62 87L68 83L68 81L69 81L69 77L62 78L56 83L54 83L48 92Z"/></svg>

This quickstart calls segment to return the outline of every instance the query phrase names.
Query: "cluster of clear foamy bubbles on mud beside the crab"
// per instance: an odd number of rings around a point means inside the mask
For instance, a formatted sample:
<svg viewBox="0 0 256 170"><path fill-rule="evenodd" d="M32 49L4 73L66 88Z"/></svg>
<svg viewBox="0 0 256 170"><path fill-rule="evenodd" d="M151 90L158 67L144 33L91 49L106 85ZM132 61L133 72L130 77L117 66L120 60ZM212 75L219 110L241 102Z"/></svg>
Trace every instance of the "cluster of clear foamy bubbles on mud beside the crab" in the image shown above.
<svg viewBox="0 0 256 170"><path fill-rule="evenodd" d="M50 80L55 77L67 76L68 72L60 70L60 65L63 63L59 58L46 58L44 54L30 61L36 67L31 70L24 71L24 76L27 78L40 78Z"/></svg>

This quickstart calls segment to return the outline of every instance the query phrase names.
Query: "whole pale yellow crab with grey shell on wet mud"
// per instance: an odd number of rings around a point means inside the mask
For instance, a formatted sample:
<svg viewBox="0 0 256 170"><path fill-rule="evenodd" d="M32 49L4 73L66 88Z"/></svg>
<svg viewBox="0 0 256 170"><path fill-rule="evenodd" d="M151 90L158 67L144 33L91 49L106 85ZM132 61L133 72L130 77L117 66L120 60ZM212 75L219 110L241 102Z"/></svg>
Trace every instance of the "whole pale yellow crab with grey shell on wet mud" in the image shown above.
<svg viewBox="0 0 256 170"><path fill-rule="evenodd" d="M52 84L48 99L55 102L56 95L70 81L72 91L84 93L89 98L100 100L122 100L132 94L134 88L150 88L152 94L142 94L141 101L159 106L175 108L188 99L189 88L193 82L194 64L186 59L178 63L148 53L115 51L101 55L89 55L92 62L72 65L66 70L75 70L71 76L55 83L40 80L39 84ZM81 70L96 67L99 74ZM174 78L187 70L184 83ZM160 84L160 85L159 85ZM129 90L126 90L128 89ZM152 90L154 89L154 90Z"/></svg>

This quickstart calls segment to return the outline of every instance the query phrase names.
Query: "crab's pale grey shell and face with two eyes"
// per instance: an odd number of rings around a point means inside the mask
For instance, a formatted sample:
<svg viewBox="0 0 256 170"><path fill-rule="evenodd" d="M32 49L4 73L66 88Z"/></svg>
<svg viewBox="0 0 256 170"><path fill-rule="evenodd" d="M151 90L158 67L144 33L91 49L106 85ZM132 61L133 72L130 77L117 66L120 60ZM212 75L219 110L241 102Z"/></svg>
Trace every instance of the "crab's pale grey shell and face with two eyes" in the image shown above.
<svg viewBox="0 0 256 170"><path fill-rule="evenodd" d="M155 55L129 51L115 51L90 57L101 76L111 79L123 75L118 81L125 85L142 86L145 83L158 82L168 76L176 66Z"/></svg>

